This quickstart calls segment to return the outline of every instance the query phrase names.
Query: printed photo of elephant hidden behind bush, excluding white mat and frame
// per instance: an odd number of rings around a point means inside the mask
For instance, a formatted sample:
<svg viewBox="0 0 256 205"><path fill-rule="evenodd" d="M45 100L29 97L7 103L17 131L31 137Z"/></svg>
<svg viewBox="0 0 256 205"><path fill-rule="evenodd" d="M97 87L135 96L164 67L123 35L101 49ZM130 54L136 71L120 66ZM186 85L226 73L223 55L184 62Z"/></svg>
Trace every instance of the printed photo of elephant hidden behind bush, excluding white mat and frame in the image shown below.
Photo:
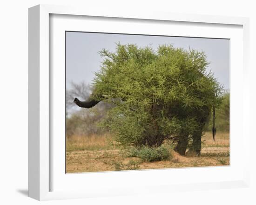
<svg viewBox="0 0 256 205"><path fill-rule="evenodd" d="M229 166L230 39L65 35L66 173Z"/></svg>

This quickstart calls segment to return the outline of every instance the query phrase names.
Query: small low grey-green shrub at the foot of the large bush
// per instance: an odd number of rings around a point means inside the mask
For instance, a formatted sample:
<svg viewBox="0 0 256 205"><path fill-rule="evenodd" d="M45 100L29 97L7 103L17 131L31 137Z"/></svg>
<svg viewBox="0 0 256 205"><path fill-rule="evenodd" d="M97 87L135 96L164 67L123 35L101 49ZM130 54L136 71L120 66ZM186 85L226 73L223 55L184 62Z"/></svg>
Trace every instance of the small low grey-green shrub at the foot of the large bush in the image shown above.
<svg viewBox="0 0 256 205"><path fill-rule="evenodd" d="M140 149L131 148L128 153L128 157L139 157L143 162L153 162L170 160L171 152L168 147L146 147L143 146Z"/></svg>

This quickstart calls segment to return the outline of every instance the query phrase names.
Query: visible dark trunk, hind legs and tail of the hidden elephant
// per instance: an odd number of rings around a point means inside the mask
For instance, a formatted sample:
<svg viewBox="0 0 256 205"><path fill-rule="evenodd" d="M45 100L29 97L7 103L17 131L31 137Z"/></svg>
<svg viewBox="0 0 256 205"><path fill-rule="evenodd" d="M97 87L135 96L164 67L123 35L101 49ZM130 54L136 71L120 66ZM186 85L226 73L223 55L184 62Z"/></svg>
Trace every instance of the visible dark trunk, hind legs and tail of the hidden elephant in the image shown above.
<svg viewBox="0 0 256 205"><path fill-rule="evenodd" d="M101 96L102 99L104 99L104 96ZM74 98L74 103L81 107L81 108L86 108L90 109L94 107L96 104L101 102L101 100L95 100L93 97L93 94L89 97L88 100L86 101L80 101L78 98ZM198 123L198 128L194 131L193 135L191 136L192 138L192 146L189 149L189 153L193 153L196 156L200 156L201 154L201 143L202 143L202 132L203 128L205 126L205 123L207 122L207 119L210 115L210 108L205 107L202 109L202 111L198 111L196 113L196 121ZM213 140L215 141L215 136L216 136L216 127L215 127L215 107L213 107L213 128L212 128L212 135L213 135ZM186 133L186 130L184 130L184 135L179 136L177 138L177 145L175 147L175 151L178 152L179 154L185 155L186 150L188 147L188 142L189 142L189 134Z"/></svg>

